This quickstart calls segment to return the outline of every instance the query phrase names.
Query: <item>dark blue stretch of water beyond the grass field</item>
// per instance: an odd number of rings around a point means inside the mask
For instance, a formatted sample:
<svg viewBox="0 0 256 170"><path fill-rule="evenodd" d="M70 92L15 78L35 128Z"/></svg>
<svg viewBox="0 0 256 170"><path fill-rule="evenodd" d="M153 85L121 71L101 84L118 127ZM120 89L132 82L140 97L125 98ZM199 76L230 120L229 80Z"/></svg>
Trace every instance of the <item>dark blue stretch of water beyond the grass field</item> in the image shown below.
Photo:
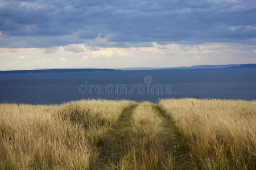
<svg viewBox="0 0 256 170"><path fill-rule="evenodd" d="M152 101L195 97L256 100L256 68L0 74L0 103L80 99Z"/></svg>

